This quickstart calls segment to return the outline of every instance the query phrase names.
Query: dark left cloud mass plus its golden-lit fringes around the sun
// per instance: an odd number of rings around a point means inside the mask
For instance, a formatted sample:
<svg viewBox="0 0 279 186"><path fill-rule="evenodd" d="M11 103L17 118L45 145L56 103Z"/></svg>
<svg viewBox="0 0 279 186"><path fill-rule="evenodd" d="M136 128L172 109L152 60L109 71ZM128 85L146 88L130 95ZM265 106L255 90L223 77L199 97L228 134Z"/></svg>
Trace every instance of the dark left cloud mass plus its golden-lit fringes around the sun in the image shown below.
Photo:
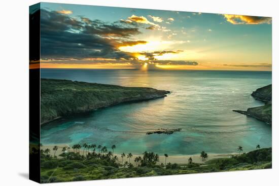
<svg viewBox="0 0 279 186"><path fill-rule="evenodd" d="M140 18L131 16L128 20L132 23L126 24L122 20L108 23L97 19L91 20L88 17L72 17L46 9L41 9L40 13L41 59L43 63L138 65L146 61L138 60L137 56L143 55L150 63L191 65L185 61L163 61L155 58L155 56L168 53L177 54L183 52L182 50L157 49L154 52L120 50L120 47L148 44L147 41L133 40L135 35L141 33L138 24L144 22L151 27L147 29L156 28L142 16ZM134 22L135 20L137 22ZM159 27L158 29L165 28Z"/></svg>

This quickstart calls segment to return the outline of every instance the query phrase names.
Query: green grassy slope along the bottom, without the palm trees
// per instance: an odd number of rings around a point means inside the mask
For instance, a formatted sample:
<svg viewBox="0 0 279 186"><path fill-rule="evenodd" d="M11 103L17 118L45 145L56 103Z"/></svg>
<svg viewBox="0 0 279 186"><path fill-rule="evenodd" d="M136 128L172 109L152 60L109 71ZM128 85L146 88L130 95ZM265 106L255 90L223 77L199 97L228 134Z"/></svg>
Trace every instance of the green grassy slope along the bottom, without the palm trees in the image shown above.
<svg viewBox="0 0 279 186"><path fill-rule="evenodd" d="M272 166L271 156L271 148L262 148L247 154L235 156L233 158L214 159L206 162L202 166L194 163L192 164L192 167L189 167L187 164L186 167L180 167L179 165L176 165L169 168L163 168L161 166L119 168L117 164L108 163L107 161L98 159L42 159L41 180L42 182L59 182L266 169L271 168Z"/></svg>

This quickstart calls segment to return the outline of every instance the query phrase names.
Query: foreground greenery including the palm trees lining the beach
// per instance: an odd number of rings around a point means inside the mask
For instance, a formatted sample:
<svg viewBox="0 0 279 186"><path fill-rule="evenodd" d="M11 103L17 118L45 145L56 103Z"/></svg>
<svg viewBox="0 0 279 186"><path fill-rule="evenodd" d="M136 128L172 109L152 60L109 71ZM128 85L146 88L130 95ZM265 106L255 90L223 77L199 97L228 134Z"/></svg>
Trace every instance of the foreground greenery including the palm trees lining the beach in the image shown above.
<svg viewBox="0 0 279 186"><path fill-rule="evenodd" d="M240 149L242 149L242 147L240 147L241 146L238 146L239 152ZM135 165L127 161L123 163L124 158L132 157L131 153L127 154L127 156L123 153L121 155L122 161L118 163L118 158L113 156L111 151L105 151L107 149L105 146L102 148L99 147L99 150L101 148L100 153L96 153L95 149L92 151L87 150L88 153L86 156L80 153L80 148L81 145L73 145L74 151L63 151L63 153L59 155L59 157L62 158L50 156L49 149L48 151L41 151L41 182L252 170L272 167L272 148L259 149L258 145L257 150L232 156L232 158L212 159L203 164L194 163L192 158L189 158L188 163L183 165L176 163L167 163L165 165L162 163L159 165L157 164L159 162L159 155L153 152L144 152L142 156L136 157L134 159ZM64 149L67 148L64 147L63 150ZM33 154L39 152L37 148L32 148ZM166 155L167 154L165 154L165 158L168 157ZM204 151L201 152L201 155L204 161L208 157Z"/></svg>

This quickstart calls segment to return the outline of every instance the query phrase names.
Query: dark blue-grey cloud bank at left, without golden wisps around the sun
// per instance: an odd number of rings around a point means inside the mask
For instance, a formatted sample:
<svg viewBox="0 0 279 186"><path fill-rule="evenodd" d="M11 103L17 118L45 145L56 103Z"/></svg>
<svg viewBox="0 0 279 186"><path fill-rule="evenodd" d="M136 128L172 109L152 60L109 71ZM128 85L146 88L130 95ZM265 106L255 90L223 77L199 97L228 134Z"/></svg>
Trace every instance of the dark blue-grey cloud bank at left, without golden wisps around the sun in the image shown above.
<svg viewBox="0 0 279 186"><path fill-rule="evenodd" d="M135 58L132 53L122 52L117 47L144 43L129 41L131 36L138 33L141 33L138 28L125 27L120 23L73 18L41 9L42 58Z"/></svg>

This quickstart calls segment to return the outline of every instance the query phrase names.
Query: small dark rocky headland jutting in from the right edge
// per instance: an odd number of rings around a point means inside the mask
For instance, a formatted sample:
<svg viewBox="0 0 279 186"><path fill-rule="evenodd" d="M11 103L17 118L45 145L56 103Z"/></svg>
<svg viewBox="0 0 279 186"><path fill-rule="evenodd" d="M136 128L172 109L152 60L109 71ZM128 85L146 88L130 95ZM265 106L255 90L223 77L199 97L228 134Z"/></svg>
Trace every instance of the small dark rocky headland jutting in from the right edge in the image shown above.
<svg viewBox="0 0 279 186"><path fill-rule="evenodd" d="M267 124L272 124L272 85L259 88L251 94L256 100L263 101L265 105L248 108L245 110L233 110L237 113L254 117Z"/></svg>

